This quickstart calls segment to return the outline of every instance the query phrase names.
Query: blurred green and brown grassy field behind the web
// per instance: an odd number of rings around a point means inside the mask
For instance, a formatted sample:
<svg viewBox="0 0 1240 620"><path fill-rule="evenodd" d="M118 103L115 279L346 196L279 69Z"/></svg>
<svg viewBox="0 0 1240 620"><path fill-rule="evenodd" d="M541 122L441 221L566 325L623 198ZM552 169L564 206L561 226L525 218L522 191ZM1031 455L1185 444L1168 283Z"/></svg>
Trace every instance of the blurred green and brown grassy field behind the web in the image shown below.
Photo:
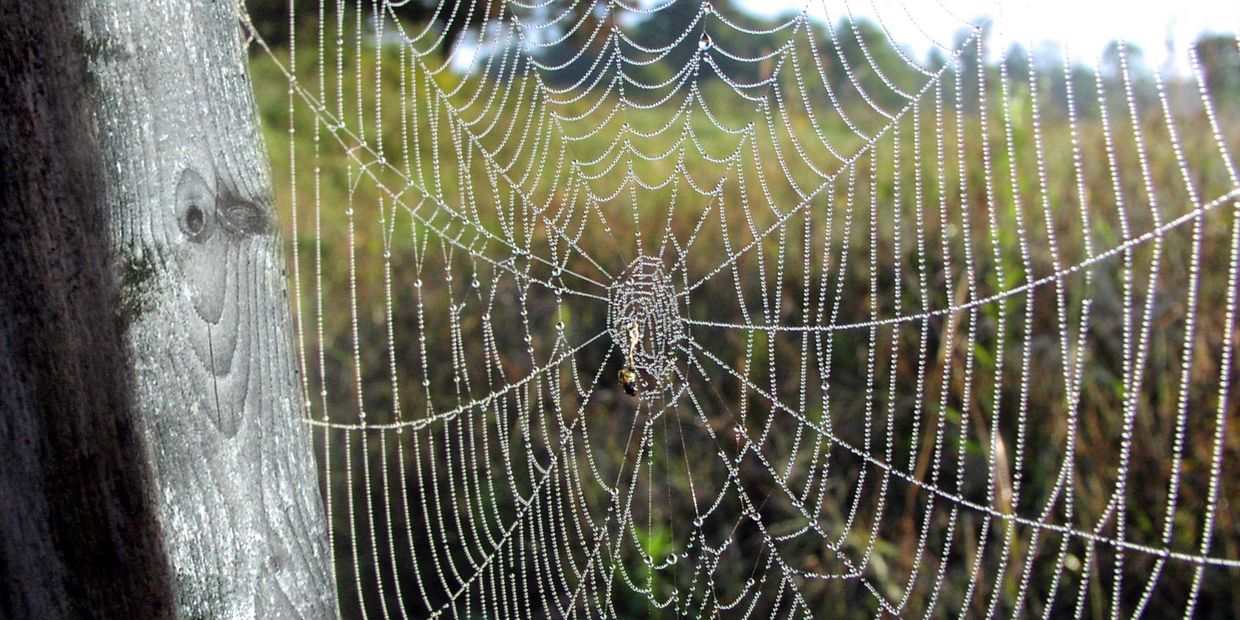
<svg viewBox="0 0 1240 620"><path fill-rule="evenodd" d="M370 46L355 53L352 37L339 55L337 71L339 50L332 38L329 33L321 57L326 67L321 74L324 98L329 113L345 119L343 128L317 125L316 131L315 110L298 94L293 112L298 131L290 133L288 79L263 53L250 63L275 171L280 221L291 244L290 257L298 257L290 274L295 277L294 295L300 294L294 303L315 419L350 423L365 410L368 422L383 423L415 419L428 407L450 409L460 402L453 386L463 368L476 383L470 392L475 398L486 393L477 384L485 384L482 376L492 366L510 379L528 373L532 362L523 353L521 325L532 334L536 360L547 360L554 351L557 324L573 343L606 327L605 304L522 288L485 260L471 259L469 252L428 236L429 226L410 218L402 206L427 203L428 211L420 213L446 213L434 205L448 205L471 217L467 226L440 224L449 232L453 226L463 231L481 227L537 255L559 257L564 272L603 281L620 273L640 253L639 247L649 253L665 237L681 244L692 239L686 267L676 275L680 288L701 281L688 296L688 319L826 325L823 316L835 312L833 325L861 325L818 335L691 327L693 340L722 365L699 358L711 379L692 372L686 379L699 403L672 408L657 422L621 394L614 379L619 362L609 355L608 337L587 346L553 373L562 381L574 371L590 378L605 363L593 398L583 402L565 386L554 410L543 412L542 423L531 423L525 439L510 440L512 445L523 440L527 448L532 443L529 454L575 455L582 469L573 471L584 471L580 475L588 477L588 467L598 467L594 474L608 479L635 458L629 443L632 430L650 429L652 448L645 451L647 464L641 465L649 467L649 475L635 475L632 482L636 495L650 500L632 505L634 523L641 527L630 528L632 547L641 548L646 558L631 549L616 551L614 558L619 558L615 570L649 584L655 598L693 583L692 563L655 570L646 559L657 565L672 554L692 554L686 547L684 515L692 515L704 498L693 480L727 480L718 455L735 455L745 443L755 445L753 454L769 459L743 459L737 476L749 495L765 497L760 512L770 534L804 525L800 506L781 492L787 485L804 490L807 497L812 491L820 507L817 522L838 538L842 549L828 549L820 539L802 534L780 543L782 557L794 558L800 569L831 573L843 570L841 554L861 557L869 549L866 580L893 600L900 600L908 588L908 604L914 610L928 604L941 569L942 591L936 601L941 613L955 614L966 606L973 614L985 613L992 591L1001 599L998 609L1012 611L1008 601L1022 587L1027 553L1033 553L1033 594L1024 613L1040 614L1061 542L1069 559L1053 615L1071 611L1078 588L1085 593L1089 615L1110 610L1114 546L1086 544L1080 537L1064 542L1059 534L1019 527L1008 549L1008 570L993 570L1006 553L1006 521L996 516L1038 518L1056 494L1069 446L1075 527L1089 529L1114 512L1112 489L1120 463L1127 459L1127 487L1121 496L1126 538L1151 548L1199 554L1220 408L1235 186L1200 99L1194 98L1195 84L1185 78L1172 77L1166 84L1182 159L1173 149L1172 125L1148 74L1136 69L1136 119L1118 76L1099 79L1100 98L1092 72L1080 71L1069 78L1078 102L1075 123L1069 123L1068 109L1058 99L1061 94L1056 88L1064 82L1053 79L1054 71L1042 73L1045 81L1034 88L1022 76L1011 76L1004 98L998 67L985 67L982 104L977 103L976 79L956 79L947 71L937 81L940 88L928 88L895 122L880 119L857 97L842 99L848 119L872 140L858 136L833 110L820 78L802 79L808 100L804 104L794 99L802 88L790 77L794 73L781 71L776 86L782 99L761 97L771 105L770 114L729 94L719 81L703 79L701 98L714 118L699 108L688 114L682 135L698 140L688 146L675 143L675 133L640 138L673 118L676 110L668 107L629 109L608 120L601 112L585 114L553 129L537 125L547 128L557 144L600 126L594 136L568 145L570 157L583 162L606 160L621 125L630 128L626 135L640 153L681 150L681 155L658 161L629 155L619 167L588 181L582 179L605 166L583 165L582 176L572 185L568 174L537 175L531 181L521 181L517 172L511 180L495 175L495 162L516 162L515 171L525 165L534 170L556 165L554 150L546 164L526 161L531 153L541 151L518 143L527 123L546 120L528 115L536 100L532 78L507 79L503 88L491 89L494 82L477 77L466 79L451 72L428 77L424 67L440 62L433 53L420 58L423 68L402 72L401 67L413 66L410 57L396 48L377 52ZM299 38L296 76L308 94L316 97L320 56L314 40L312 32ZM811 53L808 48L797 52L802 62ZM976 57L976 46L972 53ZM285 66L290 61L283 48L275 50L275 58ZM774 72L771 67L761 71ZM867 88L879 89L874 76L859 79ZM443 94L458 86L458 94ZM489 107L471 104L479 88L482 103L492 92L516 94ZM414 94L401 97L402 92ZM449 103L460 112L450 112ZM594 103L590 98L552 108L570 119ZM599 109L614 103L615 95L606 95ZM1238 153L1240 102L1215 103L1224 144ZM751 138L728 135L715 126L744 128L751 122L756 126ZM482 129L489 125L498 129ZM508 125L516 128L517 138L502 140ZM463 138L470 133L482 138ZM1140 143L1133 139L1138 134ZM832 157L823 143L847 161ZM492 154L484 156L482 150L491 146ZM744 155L727 164L699 153L719 156L737 149ZM797 155L801 151L807 156ZM681 157L688 177L703 187L718 187L713 196L694 192L683 180L631 192L621 185L626 166L652 184L650 180L671 174ZM782 166L776 164L781 160ZM830 182L823 182L823 175ZM1040 177L1048 182L1039 182ZM574 211L585 203L574 193L580 186L600 196L619 192L619 197L599 203L603 216L583 216ZM531 206L538 203L522 196L544 201L546 211L532 213ZM802 203L807 208L787 216L787 210ZM1205 206L1195 217L1194 203ZM562 236L539 217L562 222L565 231L577 234L574 243L584 252L567 250ZM784 221L787 224L773 234L761 233ZM1142 237L1156 229L1158 234ZM729 254L750 244L753 250L727 265ZM502 247L489 242L475 249L486 254ZM671 250L666 255L676 262ZM1195 265L1194 255L1199 260ZM529 263L534 277L556 278L548 265ZM727 268L715 272L720 265ZM1069 269L1075 265L1085 267ZM1022 289L1056 273L1058 280ZM481 285L471 289L471 280ZM594 290L583 280L575 284ZM1012 289L1021 293L1003 294ZM923 320L864 325L875 317L977 300L986 301ZM515 315L522 308L527 315L517 321ZM494 320L484 316L487 309L496 315ZM453 315L459 316L459 334L451 331L454 321L445 319ZM1194 320L1187 363L1185 316ZM487 358L480 342L485 337L479 334L495 339L496 361ZM919 360L925 363L919 365ZM1130 360L1140 360L1138 370L1130 370ZM419 383L430 388L419 389ZM813 443L801 419L779 410L774 402L832 429L836 440L822 446ZM1132 414L1126 415L1126 410ZM1180 410L1187 415L1180 417ZM1223 446L1221 501L1210 556L1235 559L1240 558L1240 521L1230 500L1240 497L1240 433L1234 432L1234 394L1223 410L1233 427ZM497 433L496 425L502 424L472 420L444 433L489 435ZM580 427L588 427L589 438L563 438L563 432ZM393 472L396 465L387 460L391 454L413 450L417 441L430 439L417 439L415 433L315 433L321 463L331 471L325 485L334 496L337 580L345 614L360 615L360 591L366 593L365 605L372 614L378 614L381 599L397 605L397 590L403 590L407 601L417 599L409 575L418 570L413 564L424 562L414 557L429 554L432 536L410 542L403 552L368 541L391 528L432 531L429 522L407 508L393 512L399 494L389 494L386 486L389 476L402 484L405 476ZM1125 435L1131 441L1125 441ZM952 510L951 502L884 476L884 470L842 445L864 446L864 453L889 463L893 470L992 506L994 512ZM1178 446L1178 510L1169 542L1163 543L1163 506ZM341 453L341 448L350 451ZM594 451L593 461L587 450ZM1002 464L997 471L987 465L992 456ZM433 485L450 489L455 484L448 472L453 467L448 453L430 448L422 458L428 464L445 460L438 477L432 477ZM517 471L515 489L528 490L534 484L531 464L521 455L503 465L494 453L482 458ZM830 466L830 479L822 474L815 482L816 466ZM787 475L781 480L771 469ZM365 481L367 492L356 491L362 472L383 480L382 494L379 482L372 487L370 479ZM422 480L420 470L417 476ZM599 487L583 486L582 501L599 518L606 513L610 497ZM494 501L500 515L515 510L511 495L500 494ZM760 572L765 558L763 532L739 520L744 508L733 503L725 502L718 520L698 528L703 539L732 541L712 578L713 595L720 599L739 591ZM1063 500L1054 506L1050 520L1061 522ZM554 507L547 503L546 510L553 512ZM469 507L464 511L470 515ZM370 518L360 518L362 513ZM929 551L921 553L918 542L926 513ZM1116 537L1114 521L1105 521L1097 534ZM464 533L440 536L454 544L466 538ZM624 534L615 536L622 539ZM946 554L941 552L945 546ZM1157 559L1148 553L1126 553L1118 596L1123 609L1131 610L1141 599ZM987 569L966 601L975 562ZM992 583L998 574L1002 580ZM1233 591L1238 579L1236 569L1207 569L1199 611L1240 615L1240 596ZM1179 609L1192 580L1192 565L1168 563L1147 603L1147 615L1157 618ZM621 616L653 613L646 595L620 579L613 588L613 604ZM823 616L873 615L878 609L856 579L806 580L799 589ZM433 601L443 601L445 595L433 587L424 594ZM706 594L701 596L706 599ZM756 605L760 615L774 611L777 603L763 598ZM422 608L413 604L410 609ZM554 615L551 609L537 611ZM424 610L414 613L422 614Z"/></svg>

